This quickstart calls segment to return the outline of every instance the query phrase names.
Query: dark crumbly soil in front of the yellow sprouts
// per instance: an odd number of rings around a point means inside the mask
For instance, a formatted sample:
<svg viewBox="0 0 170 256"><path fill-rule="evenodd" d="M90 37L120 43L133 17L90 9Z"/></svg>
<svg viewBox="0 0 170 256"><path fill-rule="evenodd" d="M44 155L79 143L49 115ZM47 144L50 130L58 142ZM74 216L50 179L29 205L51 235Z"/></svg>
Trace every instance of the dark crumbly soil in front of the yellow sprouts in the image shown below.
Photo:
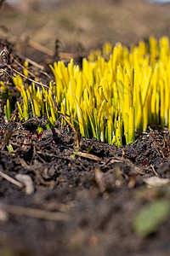
<svg viewBox="0 0 170 256"><path fill-rule="evenodd" d="M160 177L169 177L169 160L162 159L156 144L158 138L163 143L161 134L151 131L120 148L82 138L79 152L93 145L90 160L88 154L74 156L74 135L56 126L31 143L28 131L14 131L14 152L0 152L1 172L10 177L26 174L35 188L26 195L25 189L1 177L0 202L8 212L0 223L1 255L168 255L169 219L146 238L132 228L143 205L157 198L156 190L143 182L155 175L150 166ZM46 215L32 218L29 208L45 210ZM50 212L59 213L59 220L51 220Z"/></svg>

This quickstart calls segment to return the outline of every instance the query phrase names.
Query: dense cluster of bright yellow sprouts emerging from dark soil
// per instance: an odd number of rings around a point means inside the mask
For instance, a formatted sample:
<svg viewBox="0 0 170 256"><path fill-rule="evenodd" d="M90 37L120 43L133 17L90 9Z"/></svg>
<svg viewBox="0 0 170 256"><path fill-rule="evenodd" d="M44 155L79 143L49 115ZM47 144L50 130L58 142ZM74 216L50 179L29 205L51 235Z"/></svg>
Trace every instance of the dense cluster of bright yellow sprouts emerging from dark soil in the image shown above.
<svg viewBox="0 0 170 256"><path fill-rule="evenodd" d="M14 84L20 87L23 105L18 102L20 120L30 113L47 114L47 129L59 118L71 116L82 137L122 145L132 143L135 132L150 124L170 128L170 50L167 37L150 37L130 49L107 43L82 60L82 69L71 60L67 66L58 61L51 66L55 83L48 90L35 84L25 86L20 75ZM5 107L10 119L9 102ZM69 118L68 118L69 119ZM77 122L75 122L77 120ZM65 122L65 120L64 120ZM77 125L78 123L78 125ZM41 131L41 127L39 127Z"/></svg>

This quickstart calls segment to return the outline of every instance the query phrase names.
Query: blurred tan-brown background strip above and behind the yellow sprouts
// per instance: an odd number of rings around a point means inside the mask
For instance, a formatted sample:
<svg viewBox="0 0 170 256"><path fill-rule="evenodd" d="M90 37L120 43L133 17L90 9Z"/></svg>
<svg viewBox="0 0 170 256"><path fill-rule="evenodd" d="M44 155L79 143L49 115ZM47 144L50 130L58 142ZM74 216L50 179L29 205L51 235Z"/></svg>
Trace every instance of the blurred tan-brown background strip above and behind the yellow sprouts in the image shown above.
<svg viewBox="0 0 170 256"><path fill-rule="evenodd" d="M31 39L61 51L99 48L105 41L127 46L150 36L170 36L168 0L1 0L0 38L27 54ZM26 44L25 44L26 45ZM50 51L49 51L50 53ZM53 54L53 52L51 52Z"/></svg>

